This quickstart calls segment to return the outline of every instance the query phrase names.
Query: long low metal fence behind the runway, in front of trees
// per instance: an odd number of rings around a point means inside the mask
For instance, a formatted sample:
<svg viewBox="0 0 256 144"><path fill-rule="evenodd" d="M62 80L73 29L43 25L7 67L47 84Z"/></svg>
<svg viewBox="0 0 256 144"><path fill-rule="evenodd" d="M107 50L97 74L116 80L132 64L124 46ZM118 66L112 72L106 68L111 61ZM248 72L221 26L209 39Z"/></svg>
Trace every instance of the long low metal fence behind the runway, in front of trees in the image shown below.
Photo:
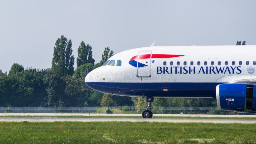
<svg viewBox="0 0 256 144"><path fill-rule="evenodd" d="M138 113L146 108L134 106L118 107L0 107L0 113ZM155 114L211 114L212 112L223 113L217 107L154 107ZM214 113L215 114L215 113Z"/></svg>

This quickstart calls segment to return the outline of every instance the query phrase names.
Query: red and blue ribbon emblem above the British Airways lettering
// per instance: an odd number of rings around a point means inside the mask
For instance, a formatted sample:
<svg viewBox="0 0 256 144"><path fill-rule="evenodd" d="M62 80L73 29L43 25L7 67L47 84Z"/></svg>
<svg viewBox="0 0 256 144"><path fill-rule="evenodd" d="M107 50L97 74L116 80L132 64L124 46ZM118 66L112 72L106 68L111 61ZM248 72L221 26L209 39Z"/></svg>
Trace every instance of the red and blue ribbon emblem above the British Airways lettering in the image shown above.
<svg viewBox="0 0 256 144"><path fill-rule="evenodd" d="M145 67L148 66L146 64L143 63L138 63L136 60L140 60L140 59L150 59L151 54L142 54L142 55L136 55L134 57L131 58L131 60L129 61L129 64L132 65L133 67ZM174 55L174 54L152 54L151 59L158 59L158 58L175 58L175 57L181 57L184 55ZM138 58L139 57L139 58Z"/></svg>

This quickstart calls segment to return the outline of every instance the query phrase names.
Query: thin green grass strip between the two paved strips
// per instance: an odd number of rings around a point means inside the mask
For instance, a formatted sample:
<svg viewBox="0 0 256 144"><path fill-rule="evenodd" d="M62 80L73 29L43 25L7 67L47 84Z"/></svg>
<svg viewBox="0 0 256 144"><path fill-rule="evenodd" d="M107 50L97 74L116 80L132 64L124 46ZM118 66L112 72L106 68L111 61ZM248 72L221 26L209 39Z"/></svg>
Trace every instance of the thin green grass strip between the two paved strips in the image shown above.
<svg viewBox="0 0 256 144"><path fill-rule="evenodd" d="M0 116L1 117L59 117L59 118L142 118L142 116ZM199 116L153 116L152 118L184 118L184 119L249 119L256 117L199 117Z"/></svg>

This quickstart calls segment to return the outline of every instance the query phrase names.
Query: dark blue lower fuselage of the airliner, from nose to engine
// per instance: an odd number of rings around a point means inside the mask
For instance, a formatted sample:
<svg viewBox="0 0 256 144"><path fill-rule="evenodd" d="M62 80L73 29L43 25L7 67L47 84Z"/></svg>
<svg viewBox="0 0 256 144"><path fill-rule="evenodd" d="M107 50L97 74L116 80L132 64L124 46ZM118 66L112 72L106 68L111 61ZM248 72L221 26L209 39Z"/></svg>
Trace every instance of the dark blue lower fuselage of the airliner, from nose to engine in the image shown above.
<svg viewBox="0 0 256 144"><path fill-rule="evenodd" d="M223 83L86 83L94 90L123 96L215 97L216 85ZM165 89L165 91L164 91ZM167 90L167 91L166 91Z"/></svg>

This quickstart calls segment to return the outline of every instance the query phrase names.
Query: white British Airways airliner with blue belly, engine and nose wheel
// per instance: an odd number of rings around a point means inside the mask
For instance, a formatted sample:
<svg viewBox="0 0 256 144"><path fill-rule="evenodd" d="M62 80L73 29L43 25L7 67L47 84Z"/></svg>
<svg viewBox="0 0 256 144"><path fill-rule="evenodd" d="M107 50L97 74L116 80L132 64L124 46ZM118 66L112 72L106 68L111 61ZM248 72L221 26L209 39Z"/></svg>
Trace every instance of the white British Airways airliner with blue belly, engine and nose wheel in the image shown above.
<svg viewBox="0 0 256 144"><path fill-rule="evenodd" d="M146 97L143 118L159 98L216 98L218 108L256 111L256 45L150 46L120 52L92 70L85 83L121 96Z"/></svg>

